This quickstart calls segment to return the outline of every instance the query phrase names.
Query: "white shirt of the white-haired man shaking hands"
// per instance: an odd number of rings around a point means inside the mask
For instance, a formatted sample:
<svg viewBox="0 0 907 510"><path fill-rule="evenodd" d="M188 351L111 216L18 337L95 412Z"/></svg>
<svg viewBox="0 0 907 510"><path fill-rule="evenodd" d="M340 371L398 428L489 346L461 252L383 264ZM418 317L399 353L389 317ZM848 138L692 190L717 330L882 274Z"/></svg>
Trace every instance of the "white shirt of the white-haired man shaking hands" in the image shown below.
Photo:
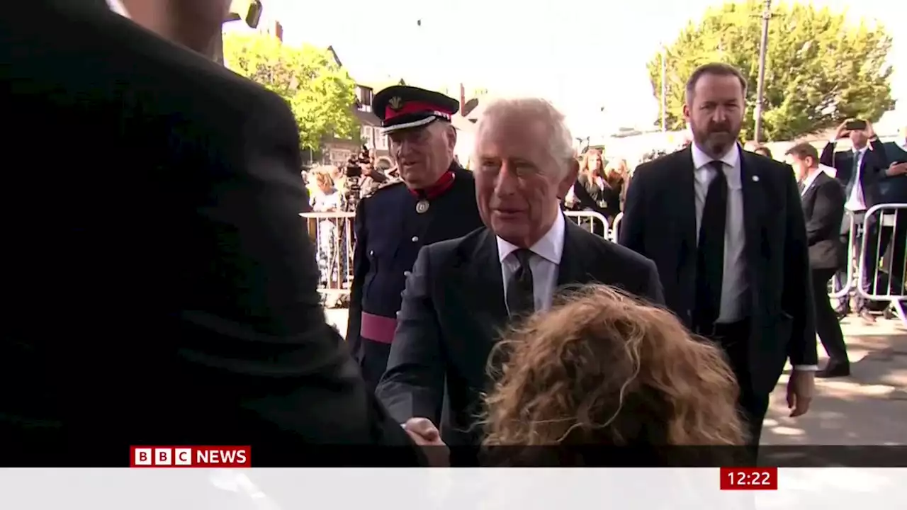
<svg viewBox="0 0 907 510"><path fill-rule="evenodd" d="M564 251L564 215L559 214L545 235L530 247L529 269L532 270L532 297L536 311L551 309L554 289L557 287L558 270L561 267L561 255ZM501 260L501 273L504 283L504 302L507 302L507 283L513 273L520 269L520 261L514 251L520 250L506 240L498 240L498 258Z"/></svg>

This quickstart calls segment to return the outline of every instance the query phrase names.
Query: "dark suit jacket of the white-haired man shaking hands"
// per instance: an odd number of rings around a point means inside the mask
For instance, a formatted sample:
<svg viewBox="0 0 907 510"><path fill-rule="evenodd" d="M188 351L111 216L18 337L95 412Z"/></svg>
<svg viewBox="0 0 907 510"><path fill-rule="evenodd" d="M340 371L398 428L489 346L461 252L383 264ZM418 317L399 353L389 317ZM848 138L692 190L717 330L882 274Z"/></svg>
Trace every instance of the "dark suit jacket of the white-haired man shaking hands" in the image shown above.
<svg viewBox="0 0 907 510"><path fill-rule="evenodd" d="M661 303L651 260L566 221L558 285L601 282ZM508 314L501 261L491 230L424 247L406 282L387 371L377 394L403 423L427 417L440 423L446 378L448 445L477 445L473 427L488 389L486 362Z"/></svg>

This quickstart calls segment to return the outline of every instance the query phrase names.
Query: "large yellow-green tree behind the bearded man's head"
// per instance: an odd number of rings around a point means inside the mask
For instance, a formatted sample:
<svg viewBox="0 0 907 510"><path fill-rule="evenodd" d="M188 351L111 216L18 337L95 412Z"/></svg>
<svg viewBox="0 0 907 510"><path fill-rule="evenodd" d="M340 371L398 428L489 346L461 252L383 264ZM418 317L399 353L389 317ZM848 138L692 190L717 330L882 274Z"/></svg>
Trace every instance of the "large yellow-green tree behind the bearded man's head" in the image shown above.
<svg viewBox="0 0 907 510"><path fill-rule="evenodd" d="M682 129L684 89L700 64L736 65L749 83L744 129L753 138L753 106L759 73L760 17L764 2L748 0L710 8L690 22L667 56L668 129ZM763 138L789 140L827 129L848 117L876 121L892 109L892 67L886 64L892 38L882 25L858 25L843 14L813 5L776 5L769 23ZM649 78L661 97L659 52L649 61ZM660 123L660 106L659 106Z"/></svg>

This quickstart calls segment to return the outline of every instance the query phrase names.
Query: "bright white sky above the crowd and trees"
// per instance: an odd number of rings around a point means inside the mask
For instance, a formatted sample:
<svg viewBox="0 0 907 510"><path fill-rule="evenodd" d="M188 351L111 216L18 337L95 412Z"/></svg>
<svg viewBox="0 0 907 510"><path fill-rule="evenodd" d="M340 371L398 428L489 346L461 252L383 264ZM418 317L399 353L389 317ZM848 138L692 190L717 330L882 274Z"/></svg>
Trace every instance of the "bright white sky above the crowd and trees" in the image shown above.
<svg viewBox="0 0 907 510"><path fill-rule="evenodd" d="M689 18L720 0L265 0L288 44L333 45L354 79L541 95L576 135L652 125L646 63ZM907 19L903 0L814 0L853 15ZM422 20L422 26L416 20ZM901 28L903 25L900 25ZM893 30L892 30L893 28ZM892 93L907 111L907 34L896 27ZM604 113L600 108L604 107ZM907 118L907 115L905 115ZM907 119L905 119L907 120ZM600 131L596 130L596 131Z"/></svg>

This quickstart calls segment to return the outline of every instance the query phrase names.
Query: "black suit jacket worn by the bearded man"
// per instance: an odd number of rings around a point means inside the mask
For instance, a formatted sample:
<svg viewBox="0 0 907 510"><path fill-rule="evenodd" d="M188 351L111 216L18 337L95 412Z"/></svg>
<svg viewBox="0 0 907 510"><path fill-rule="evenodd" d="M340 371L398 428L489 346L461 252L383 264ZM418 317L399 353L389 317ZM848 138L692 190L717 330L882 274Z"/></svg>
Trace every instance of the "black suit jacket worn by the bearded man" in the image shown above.
<svg viewBox="0 0 907 510"><path fill-rule="evenodd" d="M740 151L754 390L775 387L785 358L815 365L806 229L790 166ZM655 261L668 308L688 327L696 302L696 198L690 148L643 163L633 174L620 244Z"/></svg>

